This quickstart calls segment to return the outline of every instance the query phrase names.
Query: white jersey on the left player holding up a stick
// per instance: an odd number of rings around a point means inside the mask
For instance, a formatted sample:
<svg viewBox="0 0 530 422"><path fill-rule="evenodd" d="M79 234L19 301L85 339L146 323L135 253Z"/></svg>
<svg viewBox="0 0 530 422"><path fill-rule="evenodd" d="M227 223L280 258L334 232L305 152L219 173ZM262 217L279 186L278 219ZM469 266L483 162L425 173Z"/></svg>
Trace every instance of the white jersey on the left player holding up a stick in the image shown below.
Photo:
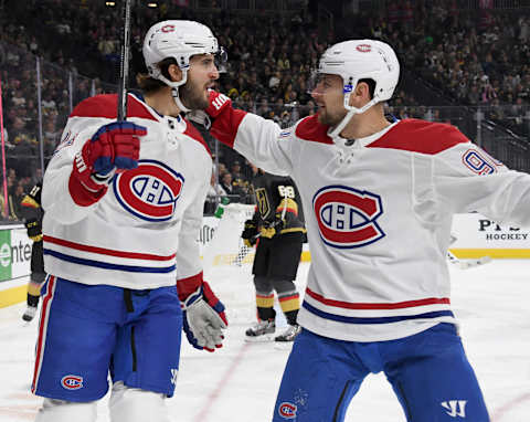
<svg viewBox="0 0 530 422"><path fill-rule="evenodd" d="M116 95L97 95L72 113L44 175L44 265L49 274L84 284L127 288L174 285L200 276L197 242L212 171L199 131L160 116L128 96L127 119L147 127L139 166L116 175L89 207L68 191L74 156L96 130L116 120Z"/></svg>

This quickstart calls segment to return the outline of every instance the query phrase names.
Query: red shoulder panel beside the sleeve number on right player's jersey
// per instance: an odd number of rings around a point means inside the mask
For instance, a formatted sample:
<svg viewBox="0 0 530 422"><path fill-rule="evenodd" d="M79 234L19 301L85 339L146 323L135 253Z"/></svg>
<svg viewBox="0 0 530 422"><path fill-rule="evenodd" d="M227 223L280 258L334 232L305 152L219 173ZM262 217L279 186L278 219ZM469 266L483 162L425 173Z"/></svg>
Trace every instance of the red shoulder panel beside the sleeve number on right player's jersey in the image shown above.
<svg viewBox="0 0 530 422"><path fill-rule="evenodd" d="M407 118L398 123L381 138L367 145L367 148L436 155L465 143L469 143L469 139L452 125Z"/></svg>

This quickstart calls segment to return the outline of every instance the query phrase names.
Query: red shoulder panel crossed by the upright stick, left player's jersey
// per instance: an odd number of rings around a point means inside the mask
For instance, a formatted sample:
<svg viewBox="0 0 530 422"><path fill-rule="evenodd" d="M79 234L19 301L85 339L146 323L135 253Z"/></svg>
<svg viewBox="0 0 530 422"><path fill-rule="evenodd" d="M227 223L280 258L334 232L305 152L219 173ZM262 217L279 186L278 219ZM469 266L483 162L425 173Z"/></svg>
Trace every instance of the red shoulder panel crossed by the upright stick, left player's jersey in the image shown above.
<svg viewBox="0 0 530 422"><path fill-rule="evenodd" d="M118 96L116 94L100 94L86 98L74 108L70 117L102 117L117 118ZM157 122L157 118L129 94L127 102L127 118L137 117Z"/></svg>

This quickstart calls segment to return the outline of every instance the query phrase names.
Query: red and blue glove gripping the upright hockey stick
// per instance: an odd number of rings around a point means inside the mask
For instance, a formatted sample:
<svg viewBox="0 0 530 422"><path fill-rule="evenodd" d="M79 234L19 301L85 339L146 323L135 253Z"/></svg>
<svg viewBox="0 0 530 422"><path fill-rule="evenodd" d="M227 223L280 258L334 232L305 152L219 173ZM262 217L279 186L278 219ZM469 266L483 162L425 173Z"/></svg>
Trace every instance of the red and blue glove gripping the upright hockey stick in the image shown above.
<svg viewBox="0 0 530 422"><path fill-rule="evenodd" d="M70 176L70 194L81 207L92 205L107 191L116 171L138 167L140 136L147 128L130 122L102 126L76 154Z"/></svg>

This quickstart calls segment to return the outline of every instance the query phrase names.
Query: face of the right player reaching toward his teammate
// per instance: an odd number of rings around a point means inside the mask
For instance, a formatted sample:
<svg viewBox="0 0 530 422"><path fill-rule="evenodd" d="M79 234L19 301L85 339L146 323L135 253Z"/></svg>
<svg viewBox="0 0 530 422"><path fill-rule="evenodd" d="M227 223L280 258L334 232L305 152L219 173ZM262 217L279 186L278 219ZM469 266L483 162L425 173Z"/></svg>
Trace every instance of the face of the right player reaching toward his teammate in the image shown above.
<svg viewBox="0 0 530 422"><path fill-rule="evenodd" d="M324 125L337 126L346 116L342 77L321 74L311 96L318 106L318 122Z"/></svg>

